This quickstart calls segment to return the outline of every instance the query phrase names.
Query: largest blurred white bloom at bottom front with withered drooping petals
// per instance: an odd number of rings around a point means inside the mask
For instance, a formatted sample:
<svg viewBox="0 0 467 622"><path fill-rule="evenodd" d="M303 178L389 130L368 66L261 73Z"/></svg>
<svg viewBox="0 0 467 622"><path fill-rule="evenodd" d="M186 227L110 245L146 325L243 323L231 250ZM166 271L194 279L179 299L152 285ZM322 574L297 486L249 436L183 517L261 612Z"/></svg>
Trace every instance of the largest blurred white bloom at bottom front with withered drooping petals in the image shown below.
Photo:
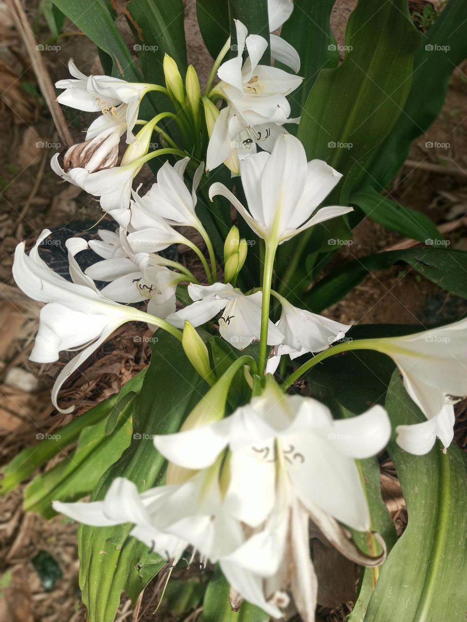
<svg viewBox="0 0 467 622"><path fill-rule="evenodd" d="M192 470L209 468L229 449L224 510L252 527L253 536L223 557L222 570L242 596L248 590L245 597L255 604L253 591L264 592L263 602L275 601L275 593L290 585L303 620L311 621L316 577L308 553L309 518L349 559L381 563L362 554L337 521L370 529L354 459L375 455L389 437L389 417L380 406L334 421L323 404L284 396L270 383L262 396L230 417L159 435L154 445L171 463ZM240 569L246 581L239 587Z"/></svg>

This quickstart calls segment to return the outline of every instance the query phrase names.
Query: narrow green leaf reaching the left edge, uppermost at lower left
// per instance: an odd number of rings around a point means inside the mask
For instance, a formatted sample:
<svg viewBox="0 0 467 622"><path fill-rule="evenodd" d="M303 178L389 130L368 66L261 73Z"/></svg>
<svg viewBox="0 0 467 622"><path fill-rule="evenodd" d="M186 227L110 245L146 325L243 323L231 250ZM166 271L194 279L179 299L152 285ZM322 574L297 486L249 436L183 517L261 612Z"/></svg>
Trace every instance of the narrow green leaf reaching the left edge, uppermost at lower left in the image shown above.
<svg viewBox="0 0 467 622"><path fill-rule="evenodd" d="M140 371L139 374L134 376L134 378L123 386L118 395L106 399L88 412L73 419L69 424L64 425L64 427L57 432L57 438L51 437L45 439L39 445L27 447L22 450L16 458L0 471L2 475L2 479L0 480L0 494L6 494L14 490L21 481L31 476L39 466L44 465L50 458L53 458L65 447L71 445L71 443L74 443L83 429L103 420L126 393L129 391L138 392L143 384L145 373L146 369L143 369L143 371Z"/></svg>

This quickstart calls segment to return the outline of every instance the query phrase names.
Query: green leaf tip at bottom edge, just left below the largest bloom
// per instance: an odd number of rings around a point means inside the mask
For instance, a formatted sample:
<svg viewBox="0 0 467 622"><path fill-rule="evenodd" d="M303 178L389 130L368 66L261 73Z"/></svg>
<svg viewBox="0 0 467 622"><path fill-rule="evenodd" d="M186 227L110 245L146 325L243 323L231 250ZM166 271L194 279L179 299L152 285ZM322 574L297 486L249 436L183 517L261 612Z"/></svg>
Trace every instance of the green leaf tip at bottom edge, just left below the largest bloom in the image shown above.
<svg viewBox="0 0 467 622"><path fill-rule="evenodd" d="M267 622L269 620L269 616L264 611L255 605L250 605L247 601L242 603L240 610L232 611L229 593L229 583L217 566L204 596L203 622Z"/></svg>

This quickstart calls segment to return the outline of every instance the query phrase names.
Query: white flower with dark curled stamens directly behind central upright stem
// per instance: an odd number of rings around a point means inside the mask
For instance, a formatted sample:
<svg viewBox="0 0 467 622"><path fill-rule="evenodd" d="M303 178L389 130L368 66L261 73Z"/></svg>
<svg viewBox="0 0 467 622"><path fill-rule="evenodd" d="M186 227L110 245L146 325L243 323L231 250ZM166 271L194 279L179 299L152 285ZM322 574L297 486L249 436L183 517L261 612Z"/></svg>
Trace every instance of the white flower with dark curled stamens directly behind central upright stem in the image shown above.
<svg viewBox="0 0 467 622"><path fill-rule="evenodd" d="M262 292L245 296L230 283L214 283L190 284L188 293L195 302L167 317L167 322L173 326L183 328L185 320L188 320L197 327L223 311L219 318L219 332L235 348L243 350L260 338ZM283 338L280 330L269 321L268 345L281 343Z"/></svg>

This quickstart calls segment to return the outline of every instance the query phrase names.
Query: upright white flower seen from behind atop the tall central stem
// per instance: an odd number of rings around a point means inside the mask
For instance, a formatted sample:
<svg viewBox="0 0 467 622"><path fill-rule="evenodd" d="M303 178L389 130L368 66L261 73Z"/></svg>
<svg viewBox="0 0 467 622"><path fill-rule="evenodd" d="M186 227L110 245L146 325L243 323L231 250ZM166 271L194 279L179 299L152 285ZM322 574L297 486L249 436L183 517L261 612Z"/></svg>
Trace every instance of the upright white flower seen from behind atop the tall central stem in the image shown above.
<svg viewBox="0 0 467 622"><path fill-rule="evenodd" d="M351 207L318 206L342 175L323 160L306 162L301 142L281 135L271 154L262 152L240 162L248 210L222 183L213 183L209 197L222 195L271 246L281 244L313 225L352 211Z"/></svg>

